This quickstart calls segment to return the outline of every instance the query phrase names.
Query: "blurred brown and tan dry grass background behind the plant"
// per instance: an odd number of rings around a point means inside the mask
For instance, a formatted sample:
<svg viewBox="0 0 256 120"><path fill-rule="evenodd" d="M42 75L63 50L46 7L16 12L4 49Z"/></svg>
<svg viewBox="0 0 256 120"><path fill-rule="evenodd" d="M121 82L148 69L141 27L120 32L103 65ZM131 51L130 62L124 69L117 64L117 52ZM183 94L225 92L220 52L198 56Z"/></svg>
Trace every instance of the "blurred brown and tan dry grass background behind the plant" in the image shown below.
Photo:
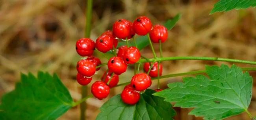
<svg viewBox="0 0 256 120"><path fill-rule="evenodd" d="M163 55L208 56L256 61L256 8L232 10L227 13L209 15L218 0L93 0L91 39L94 41L106 30L111 30L118 18L133 21L145 15L153 24L163 24L177 13L182 17L169 31L163 44ZM74 101L80 100L81 85L76 82L75 43L84 36L85 0L1 0L0 1L0 98L14 89L20 73L38 70L56 72L69 89ZM135 36L137 37L137 36ZM154 48L159 55L158 44ZM153 57L149 47L141 51ZM102 63L107 59L100 57ZM213 61L165 61L163 75L192 70L204 70L204 65L232 65ZM236 64L241 67L254 65ZM106 66L93 77L99 80ZM143 72L141 70L141 72ZM128 68L120 76L119 83L130 81L133 69ZM256 72L250 72L255 79ZM184 76L182 76L184 77ZM161 79L161 88L167 83L182 81L182 77ZM91 84L89 84L89 87ZM156 89L156 81L151 89ZM123 87L111 89L105 100L87 100L87 120L95 120L98 108L111 96L120 94ZM89 93L90 94L90 93ZM202 120L187 115L191 109L175 107L175 120ZM249 111L256 115L256 87L254 82ZM78 120L79 106L67 111L58 120ZM240 114L226 120L249 120Z"/></svg>

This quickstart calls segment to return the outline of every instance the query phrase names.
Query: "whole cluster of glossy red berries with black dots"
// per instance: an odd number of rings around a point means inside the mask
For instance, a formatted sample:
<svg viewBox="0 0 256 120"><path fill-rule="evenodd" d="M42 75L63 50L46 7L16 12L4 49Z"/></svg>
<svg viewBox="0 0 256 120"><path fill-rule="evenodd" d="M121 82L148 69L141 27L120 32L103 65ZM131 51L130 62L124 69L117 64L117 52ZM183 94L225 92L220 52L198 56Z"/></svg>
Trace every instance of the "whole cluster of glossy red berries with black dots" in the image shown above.
<svg viewBox="0 0 256 120"><path fill-rule="evenodd" d="M103 53L113 50L117 47L118 39L130 39L135 34L150 35L150 39L154 43L165 42L167 39L167 28L161 25L155 25L152 28L152 23L145 16L138 17L134 22L126 19L119 19L113 24L113 32L108 30L102 33L96 39L96 42L89 38L82 38L76 42L76 52L86 59L82 59L77 63L78 74L76 79L79 84L87 85L91 82L92 76L100 69L100 59L92 56L95 48ZM101 81L96 81L91 86L92 94L102 100L109 94L111 87L114 87L119 82L119 75L126 71L129 64L134 64L139 61L141 54L139 49L134 46L120 46L117 51L117 56L111 57L108 61L108 70L103 74ZM152 68L150 69L150 65ZM121 98L124 103L133 105L139 101L139 92L146 90L151 86L151 78L158 76L158 63L145 63L144 71L149 74L139 73L132 77L130 85L126 85L121 93ZM160 76L162 73L162 65L160 64ZM157 89L156 91L159 91Z"/></svg>

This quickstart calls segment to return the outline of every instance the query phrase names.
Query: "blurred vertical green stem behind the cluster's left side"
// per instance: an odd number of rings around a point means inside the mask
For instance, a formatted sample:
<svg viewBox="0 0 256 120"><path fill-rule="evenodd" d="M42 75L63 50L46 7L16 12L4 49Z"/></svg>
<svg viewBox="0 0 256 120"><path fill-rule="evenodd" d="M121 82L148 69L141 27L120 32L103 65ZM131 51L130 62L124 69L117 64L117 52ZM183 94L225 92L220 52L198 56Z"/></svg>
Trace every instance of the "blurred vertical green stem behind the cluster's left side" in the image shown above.
<svg viewBox="0 0 256 120"><path fill-rule="evenodd" d="M85 37L90 37L91 34L91 13L93 10L93 0L87 0L86 7L86 21L85 21ZM87 85L82 86L82 98L87 96ZM85 120L86 102L82 101L80 103L80 120Z"/></svg>

